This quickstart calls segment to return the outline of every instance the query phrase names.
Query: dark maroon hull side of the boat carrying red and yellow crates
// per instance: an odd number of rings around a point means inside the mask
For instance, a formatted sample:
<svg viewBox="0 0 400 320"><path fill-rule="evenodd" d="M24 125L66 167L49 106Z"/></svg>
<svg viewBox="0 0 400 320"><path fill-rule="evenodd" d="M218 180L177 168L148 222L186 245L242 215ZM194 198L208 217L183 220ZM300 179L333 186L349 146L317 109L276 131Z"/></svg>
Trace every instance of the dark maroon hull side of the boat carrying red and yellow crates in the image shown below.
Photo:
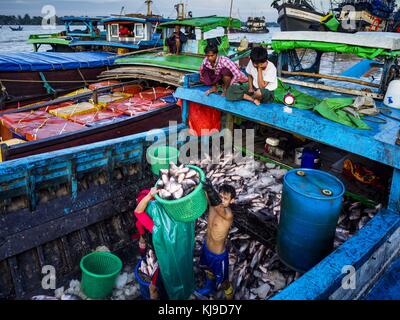
<svg viewBox="0 0 400 320"><path fill-rule="evenodd" d="M123 119L118 122L38 141L26 142L9 148L3 147L3 161L35 154L86 145L148 130L168 127L170 121L181 122L180 108L170 105L158 110Z"/></svg>

